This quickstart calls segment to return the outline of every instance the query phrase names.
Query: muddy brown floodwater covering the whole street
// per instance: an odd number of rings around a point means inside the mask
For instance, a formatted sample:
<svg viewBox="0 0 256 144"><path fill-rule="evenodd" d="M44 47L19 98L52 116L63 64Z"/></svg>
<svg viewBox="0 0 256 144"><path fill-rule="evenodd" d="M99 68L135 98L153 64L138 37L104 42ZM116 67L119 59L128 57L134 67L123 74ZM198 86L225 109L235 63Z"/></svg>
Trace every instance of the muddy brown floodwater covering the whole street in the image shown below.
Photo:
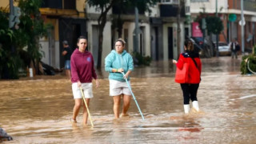
<svg viewBox="0 0 256 144"><path fill-rule="evenodd" d="M186 116L170 62L135 68L131 86L144 121L134 101L129 117L114 120L107 74L98 72L93 128L89 120L82 126L82 113L77 125L69 122L74 100L63 74L0 81L0 127L14 138L4 143L255 143L256 77L240 74L240 59L202 59L202 111Z"/></svg>

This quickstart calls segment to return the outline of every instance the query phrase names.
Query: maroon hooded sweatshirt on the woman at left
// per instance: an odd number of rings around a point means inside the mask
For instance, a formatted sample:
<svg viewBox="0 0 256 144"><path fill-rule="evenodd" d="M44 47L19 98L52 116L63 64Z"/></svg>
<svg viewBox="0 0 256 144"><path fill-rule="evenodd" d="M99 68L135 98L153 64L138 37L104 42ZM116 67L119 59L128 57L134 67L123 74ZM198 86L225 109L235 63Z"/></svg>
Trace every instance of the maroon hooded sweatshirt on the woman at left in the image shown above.
<svg viewBox="0 0 256 144"><path fill-rule="evenodd" d="M94 58L90 52L80 52L74 50L71 55L71 82L87 83L92 82L92 79L97 79L97 74L94 70Z"/></svg>

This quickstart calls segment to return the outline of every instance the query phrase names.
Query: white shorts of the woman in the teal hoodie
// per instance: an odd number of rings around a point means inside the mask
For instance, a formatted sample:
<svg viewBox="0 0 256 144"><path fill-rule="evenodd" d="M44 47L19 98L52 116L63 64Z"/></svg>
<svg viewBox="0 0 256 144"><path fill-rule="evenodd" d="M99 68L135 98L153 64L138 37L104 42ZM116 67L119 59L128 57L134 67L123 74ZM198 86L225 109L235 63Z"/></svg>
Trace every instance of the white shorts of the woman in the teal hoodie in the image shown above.
<svg viewBox="0 0 256 144"><path fill-rule="evenodd" d="M130 81L128 82L130 85ZM117 96L120 94L131 95L127 83L110 79L110 96Z"/></svg>

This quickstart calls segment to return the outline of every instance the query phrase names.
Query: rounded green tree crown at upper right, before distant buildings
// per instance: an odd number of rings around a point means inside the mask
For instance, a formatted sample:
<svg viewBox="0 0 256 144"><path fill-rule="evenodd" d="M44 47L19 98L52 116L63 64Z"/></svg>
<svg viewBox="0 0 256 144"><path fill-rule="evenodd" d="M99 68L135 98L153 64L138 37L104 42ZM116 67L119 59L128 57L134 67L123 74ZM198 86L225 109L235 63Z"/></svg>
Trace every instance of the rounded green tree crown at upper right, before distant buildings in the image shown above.
<svg viewBox="0 0 256 144"><path fill-rule="evenodd" d="M206 13L200 13L198 18L196 18L196 22L200 24L200 29L202 30L202 18L206 18L206 30L210 34L221 34L222 30L224 30L224 26L221 18L215 16L209 16Z"/></svg>

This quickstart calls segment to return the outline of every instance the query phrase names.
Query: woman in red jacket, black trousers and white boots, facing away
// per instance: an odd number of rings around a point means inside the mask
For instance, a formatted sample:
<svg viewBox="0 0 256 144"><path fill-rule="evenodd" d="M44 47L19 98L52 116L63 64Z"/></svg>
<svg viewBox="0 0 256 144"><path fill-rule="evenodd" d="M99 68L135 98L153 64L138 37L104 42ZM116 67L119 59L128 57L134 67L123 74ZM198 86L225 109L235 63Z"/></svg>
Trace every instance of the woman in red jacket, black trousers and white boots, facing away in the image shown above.
<svg viewBox="0 0 256 144"><path fill-rule="evenodd" d="M188 72L186 82L181 83L183 93L184 112L190 112L190 99L195 110L199 111L198 106L198 87L201 82L202 63L198 52L194 50L194 44L189 39L184 42L185 52L179 55L178 62L173 60L177 69L182 70L184 63L188 64Z"/></svg>

